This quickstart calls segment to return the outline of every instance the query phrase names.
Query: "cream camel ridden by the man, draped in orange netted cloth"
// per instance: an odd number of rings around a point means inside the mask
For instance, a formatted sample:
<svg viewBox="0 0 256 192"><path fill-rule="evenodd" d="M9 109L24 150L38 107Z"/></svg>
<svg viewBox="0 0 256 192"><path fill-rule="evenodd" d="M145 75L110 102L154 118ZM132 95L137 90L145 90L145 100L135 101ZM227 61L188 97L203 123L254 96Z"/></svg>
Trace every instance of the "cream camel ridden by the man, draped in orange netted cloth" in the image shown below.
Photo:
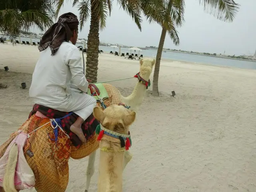
<svg viewBox="0 0 256 192"><path fill-rule="evenodd" d="M155 60L140 59L139 63L140 72L135 75L139 82L136 84L130 96L124 97L116 87L110 84L103 84L109 96L104 100L106 107L112 104L125 103L126 106L130 106L130 110L132 111L139 109L143 102L146 89L150 86L149 76L152 72ZM100 106L99 103L98 106ZM53 129L51 125L52 119L46 116L32 115L16 132L10 135L10 138L2 144L2 146L0 146L0 158L4 155L12 140L14 140L20 132L28 134L29 137L26 140L23 151L28 165L34 172L36 179L34 185L35 189L40 192L64 192L68 184L69 158L81 159L89 156L85 189L85 192L88 192L90 180L94 174L96 150L99 147L96 134L92 134L86 143L76 148L70 143L70 140L67 138L68 135L62 129L57 129L58 140L54 142L55 129ZM17 153L15 148L12 151ZM125 168L131 158L132 154L130 154L130 152L124 152L123 168ZM8 172L8 170L6 170L6 172ZM0 178L0 192L2 190L1 186L5 186L6 188L8 185L10 185L10 183L1 185ZM14 186L10 187L14 188Z"/></svg>

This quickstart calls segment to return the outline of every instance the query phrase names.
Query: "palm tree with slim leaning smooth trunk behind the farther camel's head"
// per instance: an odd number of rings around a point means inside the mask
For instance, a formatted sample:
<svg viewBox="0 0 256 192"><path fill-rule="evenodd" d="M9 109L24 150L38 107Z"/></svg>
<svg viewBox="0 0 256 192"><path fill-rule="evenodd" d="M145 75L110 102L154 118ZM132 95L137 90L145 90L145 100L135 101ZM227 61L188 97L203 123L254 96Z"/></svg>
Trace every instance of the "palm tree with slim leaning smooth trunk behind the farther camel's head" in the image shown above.
<svg viewBox="0 0 256 192"><path fill-rule="evenodd" d="M234 2L234 0L199 0L200 4L204 6L204 10L207 13L212 14L219 20L226 22L232 22L238 12L239 5ZM171 30L162 27L162 33L158 45L158 50L156 54L156 64L153 76L153 95L159 96L158 91L158 75L160 69L160 62L162 51L164 47L164 40L166 33L168 32L170 38L173 40L175 45L179 44L178 34L176 32L176 26L181 26L183 22L185 0L169 0L166 4L166 18L172 18L174 20L174 25L172 25ZM179 15L174 14L175 11L179 12ZM175 25L176 24L176 25Z"/></svg>

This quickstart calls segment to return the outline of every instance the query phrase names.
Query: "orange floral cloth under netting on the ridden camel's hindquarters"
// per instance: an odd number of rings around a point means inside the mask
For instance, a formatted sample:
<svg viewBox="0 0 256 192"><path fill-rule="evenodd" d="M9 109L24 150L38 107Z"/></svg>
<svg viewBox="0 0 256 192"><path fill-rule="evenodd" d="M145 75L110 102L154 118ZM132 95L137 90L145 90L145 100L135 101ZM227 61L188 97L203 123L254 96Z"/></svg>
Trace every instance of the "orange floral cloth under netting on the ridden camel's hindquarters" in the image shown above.
<svg viewBox="0 0 256 192"><path fill-rule="evenodd" d="M58 129L56 133L49 122L49 118L40 118L33 114L30 118L0 146L0 158L3 157L8 146L22 131L29 134L23 152L28 165L32 169L37 192L65 192L68 185L68 160L80 159L98 149L95 132L90 135L86 144L79 148L74 146L66 134ZM41 128L39 128L42 126ZM38 130L36 130L39 128ZM36 131L34 131L36 130ZM34 131L34 132L33 132Z"/></svg>

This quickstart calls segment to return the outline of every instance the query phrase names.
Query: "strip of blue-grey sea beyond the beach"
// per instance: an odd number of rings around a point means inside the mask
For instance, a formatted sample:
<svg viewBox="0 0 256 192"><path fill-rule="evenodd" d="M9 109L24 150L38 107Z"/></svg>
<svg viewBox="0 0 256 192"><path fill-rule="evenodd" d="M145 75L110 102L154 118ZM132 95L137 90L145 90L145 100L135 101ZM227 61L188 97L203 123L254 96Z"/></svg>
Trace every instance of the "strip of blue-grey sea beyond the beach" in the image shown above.
<svg viewBox="0 0 256 192"><path fill-rule="evenodd" d="M23 41L30 42L30 38L21 38ZM32 39L33 42L39 42L39 39ZM76 46L84 46L84 44L76 44ZM110 51L117 51L119 52L119 48L113 48L110 46L99 46L99 50L103 50L104 53L109 53ZM147 49L142 50L140 52L131 51L128 48L121 48L121 53L126 54L128 53L135 53L140 56L143 54L145 57L155 57L157 50L154 49ZM196 54L186 54L180 52L162 52L163 59L170 59L176 61L183 61L183 62L190 62L195 64L208 64L208 65L217 65L217 66L228 66L228 67L236 67L236 68L244 68L244 69L254 69L256 70L256 62L251 61L244 61L244 60L235 60L235 59L228 59L228 58L218 58L212 56L203 56L203 55L196 55Z"/></svg>

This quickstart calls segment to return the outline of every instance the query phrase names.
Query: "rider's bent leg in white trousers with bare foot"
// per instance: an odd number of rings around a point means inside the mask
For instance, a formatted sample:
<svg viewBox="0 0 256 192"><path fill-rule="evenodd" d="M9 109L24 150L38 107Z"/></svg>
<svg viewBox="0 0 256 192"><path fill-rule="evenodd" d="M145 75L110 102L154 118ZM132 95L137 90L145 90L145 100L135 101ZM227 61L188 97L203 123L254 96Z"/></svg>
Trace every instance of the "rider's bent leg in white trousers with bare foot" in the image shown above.
<svg viewBox="0 0 256 192"><path fill-rule="evenodd" d="M75 95L77 96L77 93ZM70 130L76 134L82 142L86 142L81 126L83 122L92 114L93 109L96 106L96 100L88 94L79 94L78 96L80 96L80 98L77 98L76 102L80 102L81 106L72 111L79 117L77 118L76 122L70 126Z"/></svg>

